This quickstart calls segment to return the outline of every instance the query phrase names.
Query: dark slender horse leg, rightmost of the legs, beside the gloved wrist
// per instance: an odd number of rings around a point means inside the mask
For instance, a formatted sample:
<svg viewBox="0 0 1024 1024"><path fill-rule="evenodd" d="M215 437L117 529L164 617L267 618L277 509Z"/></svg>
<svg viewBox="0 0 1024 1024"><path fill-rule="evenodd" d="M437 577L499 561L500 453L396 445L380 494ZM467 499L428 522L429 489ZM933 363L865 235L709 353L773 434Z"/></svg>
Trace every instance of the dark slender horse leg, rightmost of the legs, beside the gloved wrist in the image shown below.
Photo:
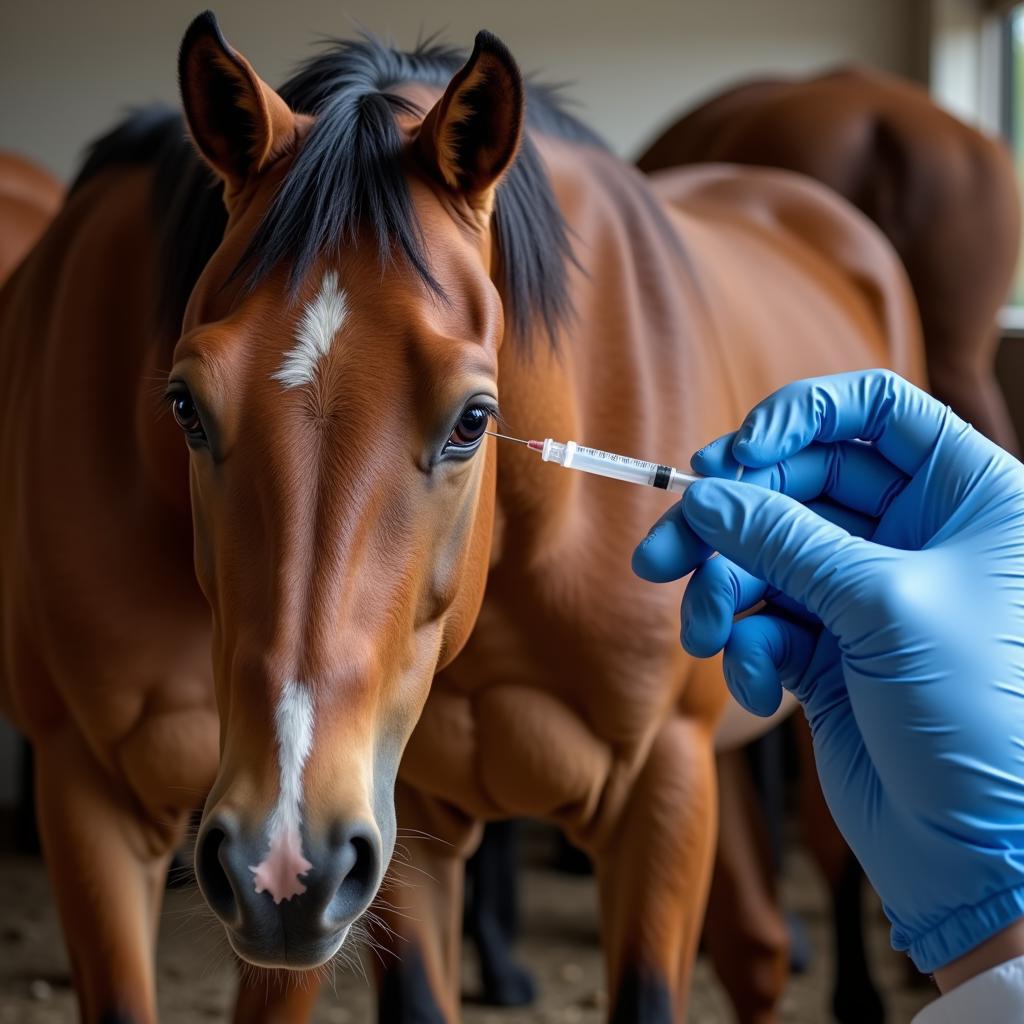
<svg viewBox="0 0 1024 1024"><path fill-rule="evenodd" d="M871 979L864 947L863 871L828 811L814 765L807 721L794 720L800 752L800 815L804 843L825 878L833 902L836 980L833 1014L840 1024L883 1024L885 1004Z"/></svg>

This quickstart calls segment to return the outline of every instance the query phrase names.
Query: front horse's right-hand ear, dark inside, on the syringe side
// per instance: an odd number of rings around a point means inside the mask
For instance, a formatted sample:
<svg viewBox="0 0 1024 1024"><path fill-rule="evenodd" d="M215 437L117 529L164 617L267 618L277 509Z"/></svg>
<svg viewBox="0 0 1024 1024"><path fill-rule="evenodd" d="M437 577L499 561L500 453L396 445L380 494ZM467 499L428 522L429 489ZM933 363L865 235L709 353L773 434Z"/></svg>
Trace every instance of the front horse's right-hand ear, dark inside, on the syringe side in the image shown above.
<svg viewBox="0 0 1024 1024"><path fill-rule="evenodd" d="M479 32L473 52L420 127L428 166L454 191L489 209L522 136L522 75L505 44Z"/></svg>

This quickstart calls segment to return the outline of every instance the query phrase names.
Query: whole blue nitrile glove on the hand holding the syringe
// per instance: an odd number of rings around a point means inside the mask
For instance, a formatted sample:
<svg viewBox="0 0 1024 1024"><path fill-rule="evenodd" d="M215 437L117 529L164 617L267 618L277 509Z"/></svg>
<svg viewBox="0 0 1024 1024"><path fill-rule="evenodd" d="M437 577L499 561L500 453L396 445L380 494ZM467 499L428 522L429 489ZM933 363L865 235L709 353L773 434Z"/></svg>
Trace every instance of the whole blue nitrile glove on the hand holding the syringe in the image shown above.
<svg viewBox="0 0 1024 1024"><path fill-rule="evenodd" d="M741 705L799 698L893 946L934 971L1024 915L1024 466L884 371L792 384L693 459L740 464L634 568L696 569L683 644L724 646Z"/></svg>

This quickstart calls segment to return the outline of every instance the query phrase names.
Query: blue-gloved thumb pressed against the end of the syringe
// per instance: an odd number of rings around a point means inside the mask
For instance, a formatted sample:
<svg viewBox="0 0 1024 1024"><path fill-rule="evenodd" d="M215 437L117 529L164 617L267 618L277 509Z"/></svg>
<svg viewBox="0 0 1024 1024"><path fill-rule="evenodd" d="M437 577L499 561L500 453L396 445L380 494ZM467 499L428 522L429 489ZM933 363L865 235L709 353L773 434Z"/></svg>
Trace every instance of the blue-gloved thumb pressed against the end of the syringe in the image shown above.
<svg viewBox="0 0 1024 1024"><path fill-rule="evenodd" d="M867 543L799 502L753 483L707 479L683 496L693 531L753 575L803 604L825 626L843 567Z"/></svg>

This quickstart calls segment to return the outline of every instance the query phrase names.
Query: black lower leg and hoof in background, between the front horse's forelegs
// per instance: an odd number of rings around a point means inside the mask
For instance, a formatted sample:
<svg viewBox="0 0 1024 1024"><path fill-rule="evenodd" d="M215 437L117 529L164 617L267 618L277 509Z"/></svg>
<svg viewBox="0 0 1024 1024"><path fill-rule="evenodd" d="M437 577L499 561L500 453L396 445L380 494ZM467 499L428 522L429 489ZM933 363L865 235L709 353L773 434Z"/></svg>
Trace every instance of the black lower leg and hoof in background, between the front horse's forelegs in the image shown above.
<svg viewBox="0 0 1024 1024"><path fill-rule="evenodd" d="M492 821L466 864L466 931L480 961L481 1000L522 1007L537 986L512 955L519 932L519 823Z"/></svg>

